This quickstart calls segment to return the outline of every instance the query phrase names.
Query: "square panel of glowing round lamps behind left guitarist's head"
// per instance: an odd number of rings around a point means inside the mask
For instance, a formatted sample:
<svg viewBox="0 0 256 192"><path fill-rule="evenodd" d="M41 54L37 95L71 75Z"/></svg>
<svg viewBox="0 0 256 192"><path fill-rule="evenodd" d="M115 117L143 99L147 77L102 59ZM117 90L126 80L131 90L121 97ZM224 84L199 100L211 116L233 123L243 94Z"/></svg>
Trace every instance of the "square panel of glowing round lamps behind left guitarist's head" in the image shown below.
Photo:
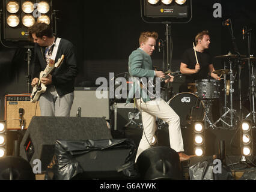
<svg viewBox="0 0 256 192"><path fill-rule="evenodd" d="M31 44L29 41L28 28L35 22L44 22L55 25L55 14L53 14L52 0L3 0L3 19L1 19L3 43L11 46L23 47ZM55 31L55 30L53 30ZM11 41L11 42L7 42Z"/></svg>

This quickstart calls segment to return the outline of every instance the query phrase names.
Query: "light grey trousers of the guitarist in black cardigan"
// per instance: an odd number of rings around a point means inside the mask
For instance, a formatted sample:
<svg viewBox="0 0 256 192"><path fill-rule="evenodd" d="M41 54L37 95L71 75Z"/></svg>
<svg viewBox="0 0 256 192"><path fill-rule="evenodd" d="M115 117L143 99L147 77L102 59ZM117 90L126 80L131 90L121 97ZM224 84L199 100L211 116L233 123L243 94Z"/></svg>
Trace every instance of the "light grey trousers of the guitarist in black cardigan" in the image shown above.
<svg viewBox="0 0 256 192"><path fill-rule="evenodd" d="M54 86L49 86L40 95L41 116L70 116L74 92L59 97Z"/></svg>

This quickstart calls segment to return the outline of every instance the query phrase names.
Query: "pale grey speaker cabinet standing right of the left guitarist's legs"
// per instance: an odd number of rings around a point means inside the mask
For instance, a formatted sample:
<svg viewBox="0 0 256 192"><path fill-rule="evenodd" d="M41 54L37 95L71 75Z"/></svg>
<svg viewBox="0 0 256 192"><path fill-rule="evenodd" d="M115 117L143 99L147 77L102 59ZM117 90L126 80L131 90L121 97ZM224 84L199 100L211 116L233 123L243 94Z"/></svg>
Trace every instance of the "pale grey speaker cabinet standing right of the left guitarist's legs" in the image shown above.
<svg viewBox="0 0 256 192"><path fill-rule="evenodd" d="M100 91L104 98L97 98L96 90L97 88L75 88L70 116L76 116L78 108L81 107L82 117L102 118L105 116L109 120L109 91Z"/></svg>

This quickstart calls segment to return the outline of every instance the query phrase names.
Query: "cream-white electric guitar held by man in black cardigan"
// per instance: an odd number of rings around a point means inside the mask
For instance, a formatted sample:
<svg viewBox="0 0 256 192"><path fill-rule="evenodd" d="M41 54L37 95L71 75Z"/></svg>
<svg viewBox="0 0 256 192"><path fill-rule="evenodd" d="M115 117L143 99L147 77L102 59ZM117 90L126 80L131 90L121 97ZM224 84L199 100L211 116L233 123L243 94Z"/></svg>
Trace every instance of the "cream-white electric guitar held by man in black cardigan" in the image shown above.
<svg viewBox="0 0 256 192"><path fill-rule="evenodd" d="M39 81L37 85L34 86L32 93L30 95L30 101L32 103L35 103L40 97L40 95L46 91L46 85L44 85L44 83L41 82L41 79L51 74L55 68L59 68L63 61L64 61L64 55L62 55L61 58L58 59L58 62L56 62L55 64L54 64L54 61L51 59L49 64L44 69L44 71L41 71Z"/></svg>

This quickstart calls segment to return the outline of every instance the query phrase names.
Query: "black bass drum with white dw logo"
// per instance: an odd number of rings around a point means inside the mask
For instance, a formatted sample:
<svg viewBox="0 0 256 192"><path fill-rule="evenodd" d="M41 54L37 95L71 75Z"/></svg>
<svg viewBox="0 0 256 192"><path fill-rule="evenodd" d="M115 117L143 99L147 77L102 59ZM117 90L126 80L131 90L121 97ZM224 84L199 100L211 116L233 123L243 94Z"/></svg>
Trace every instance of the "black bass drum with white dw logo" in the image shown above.
<svg viewBox="0 0 256 192"><path fill-rule="evenodd" d="M197 95L183 92L168 101L169 106L180 116L180 126L187 128L192 121L203 121L204 103Z"/></svg>

